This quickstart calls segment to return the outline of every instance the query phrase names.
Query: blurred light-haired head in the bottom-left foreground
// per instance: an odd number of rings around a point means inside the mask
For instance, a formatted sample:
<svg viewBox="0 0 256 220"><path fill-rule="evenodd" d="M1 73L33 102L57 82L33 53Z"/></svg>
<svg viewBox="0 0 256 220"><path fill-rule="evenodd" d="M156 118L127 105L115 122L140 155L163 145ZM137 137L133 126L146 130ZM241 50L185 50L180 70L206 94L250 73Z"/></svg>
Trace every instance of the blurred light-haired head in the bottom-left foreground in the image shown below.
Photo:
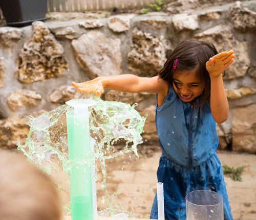
<svg viewBox="0 0 256 220"><path fill-rule="evenodd" d="M60 220L56 186L18 153L0 152L0 219Z"/></svg>

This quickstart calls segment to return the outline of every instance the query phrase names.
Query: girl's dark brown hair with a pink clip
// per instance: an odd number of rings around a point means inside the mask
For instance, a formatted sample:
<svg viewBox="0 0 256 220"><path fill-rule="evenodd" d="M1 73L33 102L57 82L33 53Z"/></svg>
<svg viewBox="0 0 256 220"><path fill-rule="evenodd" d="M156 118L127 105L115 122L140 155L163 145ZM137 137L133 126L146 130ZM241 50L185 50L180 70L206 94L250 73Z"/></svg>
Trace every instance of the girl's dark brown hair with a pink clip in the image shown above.
<svg viewBox="0 0 256 220"><path fill-rule="evenodd" d="M174 83L178 88L174 81L174 76L177 76L180 71L197 68L198 79L204 86L200 99L200 106L202 107L210 97L210 77L206 70L206 62L216 54L218 52L210 42L185 39L170 54L164 67L160 70L159 76L171 85ZM174 69L177 58L177 65Z"/></svg>

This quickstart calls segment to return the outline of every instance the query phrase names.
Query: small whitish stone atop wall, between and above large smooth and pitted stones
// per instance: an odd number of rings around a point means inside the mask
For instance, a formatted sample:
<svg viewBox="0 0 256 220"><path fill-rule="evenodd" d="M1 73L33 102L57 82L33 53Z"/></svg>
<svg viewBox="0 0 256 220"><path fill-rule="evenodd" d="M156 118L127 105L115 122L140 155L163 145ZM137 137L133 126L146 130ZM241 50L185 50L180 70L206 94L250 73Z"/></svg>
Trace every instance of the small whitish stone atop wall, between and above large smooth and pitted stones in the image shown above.
<svg viewBox="0 0 256 220"><path fill-rule="evenodd" d="M130 23L133 17L134 14L112 16L107 20L108 27L115 33L128 31L131 28Z"/></svg>

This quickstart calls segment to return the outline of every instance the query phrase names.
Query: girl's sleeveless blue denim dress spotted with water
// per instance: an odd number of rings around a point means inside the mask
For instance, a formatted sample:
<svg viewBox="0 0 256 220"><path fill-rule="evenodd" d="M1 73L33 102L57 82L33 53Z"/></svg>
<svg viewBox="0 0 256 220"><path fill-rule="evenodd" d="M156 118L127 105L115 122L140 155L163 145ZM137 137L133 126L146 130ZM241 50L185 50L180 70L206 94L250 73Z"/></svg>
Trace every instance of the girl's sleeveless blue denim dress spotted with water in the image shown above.
<svg viewBox="0 0 256 220"><path fill-rule="evenodd" d="M200 110L183 102L169 86L163 105L156 107L156 128L162 150L157 178L164 186L165 219L185 220L186 194L206 189L222 195L224 220L232 220L209 102ZM150 218L158 219L157 194Z"/></svg>

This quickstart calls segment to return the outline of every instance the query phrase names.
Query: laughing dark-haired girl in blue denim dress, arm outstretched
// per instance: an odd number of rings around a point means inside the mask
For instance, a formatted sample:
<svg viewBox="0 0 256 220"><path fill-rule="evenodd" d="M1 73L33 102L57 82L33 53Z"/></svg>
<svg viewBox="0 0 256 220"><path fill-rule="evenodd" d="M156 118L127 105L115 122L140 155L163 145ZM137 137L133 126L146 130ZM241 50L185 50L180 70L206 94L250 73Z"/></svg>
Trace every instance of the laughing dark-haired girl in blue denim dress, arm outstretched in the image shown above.
<svg viewBox="0 0 256 220"><path fill-rule="evenodd" d="M104 88L157 93L156 128L162 150L157 177L164 184L165 219L185 220L185 196L200 189L219 192L224 219L233 219L216 154L216 122L228 118L222 73L233 58L233 51L218 54L210 42L187 39L175 48L159 76L119 75L72 82L79 91L96 95ZM157 195L150 217L158 219Z"/></svg>

